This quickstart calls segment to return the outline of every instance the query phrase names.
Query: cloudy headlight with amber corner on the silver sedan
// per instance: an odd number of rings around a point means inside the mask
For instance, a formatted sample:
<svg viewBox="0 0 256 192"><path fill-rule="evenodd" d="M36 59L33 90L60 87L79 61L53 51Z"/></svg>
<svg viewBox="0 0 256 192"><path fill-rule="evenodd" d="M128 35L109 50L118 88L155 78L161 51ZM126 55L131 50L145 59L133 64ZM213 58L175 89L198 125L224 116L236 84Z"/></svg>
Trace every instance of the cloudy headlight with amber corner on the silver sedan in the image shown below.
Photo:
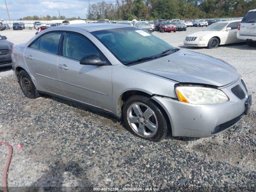
<svg viewBox="0 0 256 192"><path fill-rule="evenodd" d="M229 100L219 89L200 86L177 86L176 94L181 102L190 104L215 104Z"/></svg>

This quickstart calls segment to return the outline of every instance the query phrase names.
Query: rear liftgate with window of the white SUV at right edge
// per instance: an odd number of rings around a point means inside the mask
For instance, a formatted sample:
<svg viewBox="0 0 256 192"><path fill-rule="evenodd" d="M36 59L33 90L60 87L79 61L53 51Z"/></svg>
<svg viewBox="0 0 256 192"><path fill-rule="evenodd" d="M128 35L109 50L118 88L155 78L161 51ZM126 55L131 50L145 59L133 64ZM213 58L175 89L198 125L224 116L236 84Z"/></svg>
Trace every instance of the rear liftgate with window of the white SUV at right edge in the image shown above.
<svg viewBox="0 0 256 192"><path fill-rule="evenodd" d="M240 35L256 36L256 11L249 11L241 21Z"/></svg>

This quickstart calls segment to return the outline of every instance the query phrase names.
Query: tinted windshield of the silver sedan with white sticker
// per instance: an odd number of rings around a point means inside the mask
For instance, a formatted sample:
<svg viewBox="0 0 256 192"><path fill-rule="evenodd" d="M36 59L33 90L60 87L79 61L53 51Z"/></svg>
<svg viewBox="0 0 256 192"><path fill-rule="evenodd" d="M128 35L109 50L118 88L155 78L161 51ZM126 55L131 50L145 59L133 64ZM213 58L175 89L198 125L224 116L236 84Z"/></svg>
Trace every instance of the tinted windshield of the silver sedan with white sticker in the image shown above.
<svg viewBox="0 0 256 192"><path fill-rule="evenodd" d="M165 50L176 50L156 36L135 27L99 30L91 34L98 38L122 64L156 56Z"/></svg>

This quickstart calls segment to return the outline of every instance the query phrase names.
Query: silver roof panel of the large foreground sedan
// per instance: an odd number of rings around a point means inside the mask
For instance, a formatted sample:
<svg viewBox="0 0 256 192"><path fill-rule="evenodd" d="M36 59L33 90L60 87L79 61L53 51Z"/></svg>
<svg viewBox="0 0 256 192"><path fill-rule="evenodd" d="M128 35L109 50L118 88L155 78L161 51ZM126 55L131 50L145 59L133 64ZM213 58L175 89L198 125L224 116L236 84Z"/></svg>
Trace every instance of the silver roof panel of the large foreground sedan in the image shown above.
<svg viewBox="0 0 256 192"><path fill-rule="evenodd" d="M126 27L133 27L124 24L103 24L103 23L85 23L85 24L69 24L69 25L62 25L62 27L73 27L73 28L80 28L86 30L88 32L99 31L99 30L107 30L107 29L116 29L116 28L126 28Z"/></svg>

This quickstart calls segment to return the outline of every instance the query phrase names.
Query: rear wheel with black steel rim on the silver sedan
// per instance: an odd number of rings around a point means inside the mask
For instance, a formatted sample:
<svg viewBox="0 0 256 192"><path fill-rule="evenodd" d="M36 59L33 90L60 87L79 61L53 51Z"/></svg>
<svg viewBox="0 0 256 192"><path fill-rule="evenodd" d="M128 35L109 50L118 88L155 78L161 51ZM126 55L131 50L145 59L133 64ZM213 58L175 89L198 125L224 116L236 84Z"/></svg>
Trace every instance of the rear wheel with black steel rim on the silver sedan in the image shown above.
<svg viewBox="0 0 256 192"><path fill-rule="evenodd" d="M20 88L26 97L31 99L40 97L32 79L25 70L20 70L18 74L18 81Z"/></svg>

